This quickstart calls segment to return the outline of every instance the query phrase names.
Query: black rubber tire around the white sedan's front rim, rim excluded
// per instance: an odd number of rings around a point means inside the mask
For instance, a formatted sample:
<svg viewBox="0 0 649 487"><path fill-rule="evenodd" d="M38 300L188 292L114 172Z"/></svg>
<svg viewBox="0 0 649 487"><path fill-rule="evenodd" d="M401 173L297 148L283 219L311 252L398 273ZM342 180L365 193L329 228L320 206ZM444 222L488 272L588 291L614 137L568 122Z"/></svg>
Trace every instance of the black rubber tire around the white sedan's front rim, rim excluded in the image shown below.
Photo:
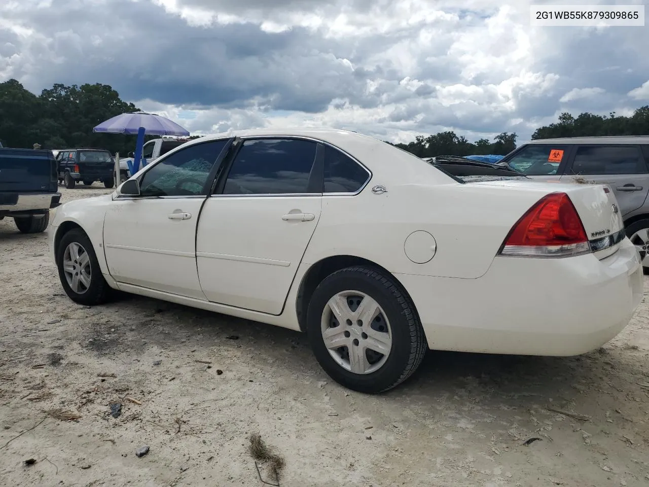
<svg viewBox="0 0 649 487"><path fill-rule="evenodd" d="M88 257L90 258L90 286L88 286L88 288L82 293L77 293L72 290L63 271L64 254L66 253L67 246L73 242L79 243L79 245L81 245L88 253ZM92 246L92 242L90 242L90 238L86 235L86 232L81 229L72 229L67 232L58 243L58 248L56 249L56 268L58 269L58 278L61 281L63 289L67 296L72 301L75 301L75 303L94 306L106 303L110 298L111 289L101 273L95 249Z"/></svg>

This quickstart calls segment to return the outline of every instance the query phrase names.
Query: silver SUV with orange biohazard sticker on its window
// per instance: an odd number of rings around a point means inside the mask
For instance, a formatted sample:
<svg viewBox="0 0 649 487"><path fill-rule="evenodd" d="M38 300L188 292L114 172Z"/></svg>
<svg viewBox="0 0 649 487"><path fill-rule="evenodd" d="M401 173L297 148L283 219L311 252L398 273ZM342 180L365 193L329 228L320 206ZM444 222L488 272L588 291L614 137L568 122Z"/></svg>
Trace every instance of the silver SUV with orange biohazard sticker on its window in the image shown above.
<svg viewBox="0 0 649 487"><path fill-rule="evenodd" d="M542 181L608 184L649 273L649 136L532 140L498 164Z"/></svg>

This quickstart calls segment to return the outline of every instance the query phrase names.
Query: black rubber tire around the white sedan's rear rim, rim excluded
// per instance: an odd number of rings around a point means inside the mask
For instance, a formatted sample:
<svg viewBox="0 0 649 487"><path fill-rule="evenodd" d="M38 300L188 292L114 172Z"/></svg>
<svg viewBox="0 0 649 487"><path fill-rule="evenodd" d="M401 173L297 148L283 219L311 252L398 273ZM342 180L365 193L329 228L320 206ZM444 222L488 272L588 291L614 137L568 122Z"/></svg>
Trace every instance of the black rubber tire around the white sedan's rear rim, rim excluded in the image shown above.
<svg viewBox="0 0 649 487"><path fill-rule="evenodd" d="M346 290L359 291L372 297L390 323L391 351L383 366L371 373L357 374L343 368L324 345L321 320L326 303L337 293ZM334 381L358 392L380 393L397 386L417 370L428 349L410 298L392 277L376 269L350 267L326 277L313 292L306 319L309 341L321 367Z"/></svg>

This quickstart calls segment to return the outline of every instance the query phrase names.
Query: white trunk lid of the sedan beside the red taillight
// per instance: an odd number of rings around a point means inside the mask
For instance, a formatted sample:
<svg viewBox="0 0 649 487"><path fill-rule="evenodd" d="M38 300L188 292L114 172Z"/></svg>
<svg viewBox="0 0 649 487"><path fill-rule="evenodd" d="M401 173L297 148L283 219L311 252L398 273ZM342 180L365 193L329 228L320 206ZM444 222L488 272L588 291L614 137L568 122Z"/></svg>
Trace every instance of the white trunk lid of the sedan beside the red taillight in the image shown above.
<svg viewBox="0 0 649 487"><path fill-rule="evenodd" d="M622 212L613 190L606 184L539 182L519 178L467 184L530 188L542 195L555 192L567 194L582 219L591 249L597 258L602 259L615 253L624 239Z"/></svg>

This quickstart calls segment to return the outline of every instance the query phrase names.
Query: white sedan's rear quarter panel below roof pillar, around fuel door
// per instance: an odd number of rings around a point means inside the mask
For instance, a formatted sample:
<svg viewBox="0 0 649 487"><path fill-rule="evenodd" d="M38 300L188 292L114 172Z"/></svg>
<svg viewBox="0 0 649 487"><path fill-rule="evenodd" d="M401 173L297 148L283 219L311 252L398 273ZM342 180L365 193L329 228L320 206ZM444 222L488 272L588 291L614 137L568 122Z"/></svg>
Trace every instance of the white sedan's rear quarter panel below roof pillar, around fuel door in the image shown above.
<svg viewBox="0 0 649 487"><path fill-rule="evenodd" d="M520 190L451 182L386 184L387 192L377 195L374 184L381 181L373 179L356 196L323 197L304 263L353 255L392 273L475 279L487 272L516 221L548 193L544 184ZM435 238L435 255L425 264L415 264L404 251L415 231Z"/></svg>

